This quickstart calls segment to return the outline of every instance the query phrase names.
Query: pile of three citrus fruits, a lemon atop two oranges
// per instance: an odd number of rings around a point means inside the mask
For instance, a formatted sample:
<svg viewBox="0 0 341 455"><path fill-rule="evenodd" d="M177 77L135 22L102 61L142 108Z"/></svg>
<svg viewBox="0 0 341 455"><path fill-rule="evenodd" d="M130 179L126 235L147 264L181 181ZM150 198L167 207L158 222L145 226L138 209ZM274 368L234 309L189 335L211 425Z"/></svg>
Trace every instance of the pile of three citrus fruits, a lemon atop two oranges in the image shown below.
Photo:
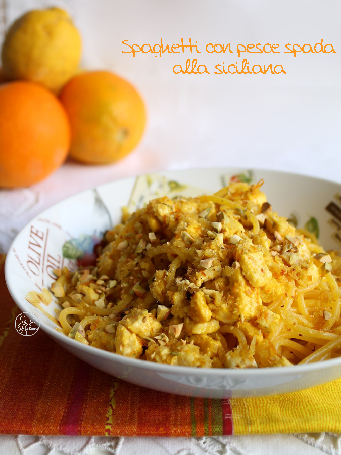
<svg viewBox="0 0 341 455"><path fill-rule="evenodd" d="M68 155L113 163L145 127L136 89L110 71L80 71L81 37L69 15L30 11L8 30L0 69L0 188L26 187Z"/></svg>

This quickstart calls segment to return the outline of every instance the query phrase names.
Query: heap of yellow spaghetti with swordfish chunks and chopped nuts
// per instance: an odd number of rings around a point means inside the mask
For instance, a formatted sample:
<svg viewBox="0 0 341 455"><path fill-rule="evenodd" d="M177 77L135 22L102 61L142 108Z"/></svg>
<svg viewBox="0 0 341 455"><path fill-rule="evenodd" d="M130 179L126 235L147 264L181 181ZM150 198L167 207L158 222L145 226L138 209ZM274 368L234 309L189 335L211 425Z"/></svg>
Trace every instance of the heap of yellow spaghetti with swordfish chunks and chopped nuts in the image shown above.
<svg viewBox="0 0 341 455"><path fill-rule="evenodd" d="M341 257L273 211L261 185L164 196L126 214L94 265L55 270L65 333L186 367L292 366L341 355Z"/></svg>

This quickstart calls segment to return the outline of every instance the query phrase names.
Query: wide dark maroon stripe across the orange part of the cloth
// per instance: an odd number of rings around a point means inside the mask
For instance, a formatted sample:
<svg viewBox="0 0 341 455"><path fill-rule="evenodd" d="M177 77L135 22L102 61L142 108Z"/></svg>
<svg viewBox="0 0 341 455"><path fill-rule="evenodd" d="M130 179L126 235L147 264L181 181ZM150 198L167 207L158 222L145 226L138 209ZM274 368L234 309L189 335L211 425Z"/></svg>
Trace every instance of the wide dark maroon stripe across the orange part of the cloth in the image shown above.
<svg viewBox="0 0 341 455"><path fill-rule="evenodd" d="M77 360L68 402L60 424L60 434L81 434L83 406L91 370L87 363Z"/></svg>

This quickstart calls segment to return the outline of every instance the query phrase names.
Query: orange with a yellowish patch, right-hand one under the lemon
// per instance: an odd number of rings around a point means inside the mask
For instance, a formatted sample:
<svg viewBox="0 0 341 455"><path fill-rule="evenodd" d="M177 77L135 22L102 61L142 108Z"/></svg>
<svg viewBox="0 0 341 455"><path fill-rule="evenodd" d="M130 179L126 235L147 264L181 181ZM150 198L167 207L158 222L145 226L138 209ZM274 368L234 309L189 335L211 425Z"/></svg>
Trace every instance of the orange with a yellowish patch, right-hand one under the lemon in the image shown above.
<svg viewBox="0 0 341 455"><path fill-rule="evenodd" d="M145 108L136 89L109 71L74 76L60 94L71 125L70 155L84 163L123 158L145 127Z"/></svg>

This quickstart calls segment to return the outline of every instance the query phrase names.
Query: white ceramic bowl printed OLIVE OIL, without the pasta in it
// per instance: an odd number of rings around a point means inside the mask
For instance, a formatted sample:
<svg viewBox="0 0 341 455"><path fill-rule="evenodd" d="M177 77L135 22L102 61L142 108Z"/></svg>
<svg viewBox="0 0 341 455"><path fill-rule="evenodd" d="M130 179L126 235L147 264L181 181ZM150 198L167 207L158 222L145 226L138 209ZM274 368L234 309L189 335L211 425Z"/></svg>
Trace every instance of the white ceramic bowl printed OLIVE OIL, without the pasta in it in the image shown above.
<svg viewBox="0 0 341 455"><path fill-rule="evenodd" d="M160 175L140 177L137 184L136 178L128 178L84 191L45 210L29 222L14 240L5 265L6 282L19 308L34 313L41 330L93 367L162 392L244 398L301 390L341 377L341 358L305 366L246 370L174 367L128 358L68 338L25 299L29 291L39 292L50 286L54 268L75 266L74 260L63 258L62 247L66 241L79 238L88 241L91 237L100 237L112 224L120 221L121 209L129 201L133 209L145 201L146 193L147 197L165 193L175 195L177 192L189 195L198 194L198 188L213 193L232 176L237 178L236 175L242 179L252 178L253 183L263 178L262 190L275 211L296 219L299 227L309 222L311 229L319 229L319 240L326 249L340 248L341 185L337 183L298 174L245 169L182 170ZM134 196L130 198L133 189ZM53 302L46 310L54 315L57 307Z"/></svg>

